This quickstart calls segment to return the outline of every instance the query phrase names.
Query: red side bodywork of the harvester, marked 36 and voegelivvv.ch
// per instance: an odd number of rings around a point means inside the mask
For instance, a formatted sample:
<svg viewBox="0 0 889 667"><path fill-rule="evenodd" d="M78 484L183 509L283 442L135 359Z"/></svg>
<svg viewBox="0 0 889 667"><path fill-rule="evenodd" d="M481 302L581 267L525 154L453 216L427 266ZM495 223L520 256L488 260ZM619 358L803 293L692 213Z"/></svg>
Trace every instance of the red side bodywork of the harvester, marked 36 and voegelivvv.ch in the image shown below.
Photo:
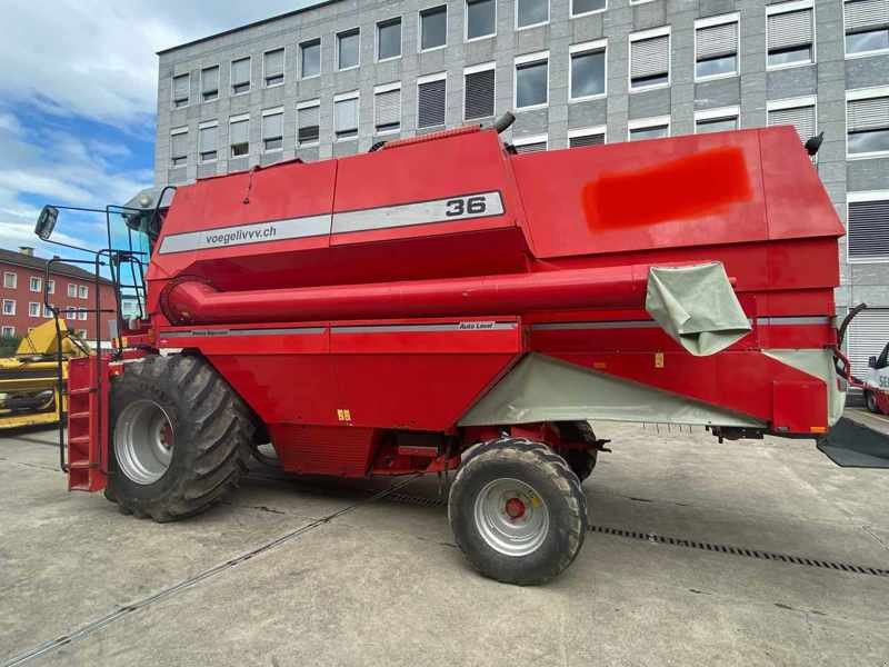
<svg viewBox="0 0 889 667"><path fill-rule="evenodd" d="M288 236L242 242L267 225ZM436 448L392 434L458 434L529 351L810 434L825 382L762 350L836 342L841 235L790 128L522 156L467 131L180 188L149 310L157 347L204 355L303 472L416 468ZM702 261L753 328L693 357L642 302L647 267Z"/></svg>

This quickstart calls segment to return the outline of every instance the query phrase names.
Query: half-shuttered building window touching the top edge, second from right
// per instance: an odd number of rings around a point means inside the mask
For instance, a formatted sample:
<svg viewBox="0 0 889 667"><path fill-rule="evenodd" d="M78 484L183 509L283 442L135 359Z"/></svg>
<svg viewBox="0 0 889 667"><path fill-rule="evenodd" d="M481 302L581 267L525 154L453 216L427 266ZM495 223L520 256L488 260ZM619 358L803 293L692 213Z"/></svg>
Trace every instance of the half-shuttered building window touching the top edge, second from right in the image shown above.
<svg viewBox="0 0 889 667"><path fill-rule="evenodd" d="M815 11L811 0L782 2L766 8L768 67L815 62Z"/></svg>

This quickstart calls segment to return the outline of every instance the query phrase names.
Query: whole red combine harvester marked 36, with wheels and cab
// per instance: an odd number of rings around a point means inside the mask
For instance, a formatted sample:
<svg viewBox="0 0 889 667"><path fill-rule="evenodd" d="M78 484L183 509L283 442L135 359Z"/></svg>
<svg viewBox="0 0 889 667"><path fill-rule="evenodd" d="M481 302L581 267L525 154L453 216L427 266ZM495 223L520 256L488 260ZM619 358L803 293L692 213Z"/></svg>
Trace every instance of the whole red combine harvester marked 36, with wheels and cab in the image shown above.
<svg viewBox="0 0 889 667"><path fill-rule="evenodd" d="M508 123L104 209L97 276L142 311L70 362L70 488L169 521L268 441L300 475L456 470L460 548L536 584L583 544L591 422L831 427L843 228L792 128L515 155Z"/></svg>

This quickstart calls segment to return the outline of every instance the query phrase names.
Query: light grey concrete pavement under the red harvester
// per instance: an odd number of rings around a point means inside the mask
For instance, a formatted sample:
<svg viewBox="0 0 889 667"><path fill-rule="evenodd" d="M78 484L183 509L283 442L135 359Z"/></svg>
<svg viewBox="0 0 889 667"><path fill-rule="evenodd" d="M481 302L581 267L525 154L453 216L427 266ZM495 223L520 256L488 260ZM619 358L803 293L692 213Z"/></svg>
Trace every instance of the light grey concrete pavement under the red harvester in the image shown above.
<svg viewBox="0 0 889 667"><path fill-rule="evenodd" d="M889 576L830 566L889 569L886 471L806 441L597 435L615 451L585 484L590 521L618 535L590 532L538 588L479 577L443 506L397 501L434 499L434 479L366 502L392 481L257 470L227 504L157 525L67 494L53 431L4 437L0 665L41 646L23 664L889 665Z"/></svg>

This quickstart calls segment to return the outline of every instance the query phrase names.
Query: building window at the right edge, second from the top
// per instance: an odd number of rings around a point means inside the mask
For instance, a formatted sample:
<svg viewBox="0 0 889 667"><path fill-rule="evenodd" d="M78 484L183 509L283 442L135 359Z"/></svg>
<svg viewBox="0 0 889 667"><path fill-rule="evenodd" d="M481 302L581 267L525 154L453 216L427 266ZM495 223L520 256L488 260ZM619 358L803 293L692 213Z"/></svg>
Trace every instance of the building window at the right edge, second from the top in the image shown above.
<svg viewBox="0 0 889 667"><path fill-rule="evenodd" d="M846 91L846 152L889 156L889 86Z"/></svg>

